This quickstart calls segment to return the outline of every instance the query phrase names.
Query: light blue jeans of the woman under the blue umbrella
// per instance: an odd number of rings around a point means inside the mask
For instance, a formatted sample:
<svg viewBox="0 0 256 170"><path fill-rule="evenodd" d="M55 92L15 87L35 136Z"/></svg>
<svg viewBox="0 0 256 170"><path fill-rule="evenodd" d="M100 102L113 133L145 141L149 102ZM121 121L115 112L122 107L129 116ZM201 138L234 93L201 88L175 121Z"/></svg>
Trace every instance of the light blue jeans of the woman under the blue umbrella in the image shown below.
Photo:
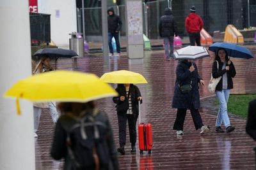
<svg viewBox="0 0 256 170"><path fill-rule="evenodd" d="M223 121L225 127L230 126L230 121L229 121L229 118L228 118L228 110L227 110L229 94L230 94L230 89L225 89L225 90L222 90L222 91L216 91L216 96L217 96L218 101L220 103L218 116L217 116L217 119L216 119L216 126L220 126L222 121Z"/></svg>

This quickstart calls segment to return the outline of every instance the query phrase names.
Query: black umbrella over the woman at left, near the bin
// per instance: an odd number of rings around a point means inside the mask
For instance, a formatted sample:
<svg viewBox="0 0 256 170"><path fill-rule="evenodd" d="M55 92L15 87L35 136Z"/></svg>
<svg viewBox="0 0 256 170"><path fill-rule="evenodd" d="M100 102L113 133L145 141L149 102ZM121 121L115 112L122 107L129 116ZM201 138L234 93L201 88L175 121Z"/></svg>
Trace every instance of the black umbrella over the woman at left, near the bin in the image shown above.
<svg viewBox="0 0 256 170"><path fill-rule="evenodd" d="M77 53L73 50L66 50L62 48L43 48L33 54L33 56L38 57L42 57L44 55L47 55L52 58L78 56Z"/></svg>

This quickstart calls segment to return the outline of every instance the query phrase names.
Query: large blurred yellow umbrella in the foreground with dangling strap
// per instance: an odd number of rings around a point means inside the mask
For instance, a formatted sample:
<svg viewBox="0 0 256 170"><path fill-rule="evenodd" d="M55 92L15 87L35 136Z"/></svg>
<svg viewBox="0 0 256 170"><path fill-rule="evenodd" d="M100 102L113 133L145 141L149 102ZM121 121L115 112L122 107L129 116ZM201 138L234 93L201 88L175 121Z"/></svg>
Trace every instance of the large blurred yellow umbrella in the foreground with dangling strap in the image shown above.
<svg viewBox="0 0 256 170"><path fill-rule="evenodd" d="M61 101L88 102L104 97L117 96L117 92L95 74L77 71L51 71L36 74L18 81L5 92L4 97L33 102Z"/></svg>

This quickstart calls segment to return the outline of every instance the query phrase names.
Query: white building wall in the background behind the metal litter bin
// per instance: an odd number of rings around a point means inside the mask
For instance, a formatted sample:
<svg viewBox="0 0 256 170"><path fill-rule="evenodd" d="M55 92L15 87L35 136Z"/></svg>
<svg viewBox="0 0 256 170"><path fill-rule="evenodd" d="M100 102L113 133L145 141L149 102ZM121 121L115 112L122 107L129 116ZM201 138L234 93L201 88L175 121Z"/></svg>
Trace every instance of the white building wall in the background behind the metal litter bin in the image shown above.
<svg viewBox="0 0 256 170"><path fill-rule="evenodd" d="M77 32L75 0L38 0L38 13L51 14L51 39L57 46L69 44L71 32Z"/></svg>

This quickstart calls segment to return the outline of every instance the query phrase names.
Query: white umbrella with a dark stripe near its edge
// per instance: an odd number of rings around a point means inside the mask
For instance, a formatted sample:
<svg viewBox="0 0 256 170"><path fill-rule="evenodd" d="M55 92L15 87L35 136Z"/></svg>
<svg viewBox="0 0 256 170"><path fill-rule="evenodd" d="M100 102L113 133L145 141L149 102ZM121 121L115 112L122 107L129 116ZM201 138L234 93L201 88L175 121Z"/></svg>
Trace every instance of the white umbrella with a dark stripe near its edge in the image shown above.
<svg viewBox="0 0 256 170"><path fill-rule="evenodd" d="M196 60L203 57L210 57L208 51L204 46L186 46L176 50L174 53L175 60Z"/></svg>

